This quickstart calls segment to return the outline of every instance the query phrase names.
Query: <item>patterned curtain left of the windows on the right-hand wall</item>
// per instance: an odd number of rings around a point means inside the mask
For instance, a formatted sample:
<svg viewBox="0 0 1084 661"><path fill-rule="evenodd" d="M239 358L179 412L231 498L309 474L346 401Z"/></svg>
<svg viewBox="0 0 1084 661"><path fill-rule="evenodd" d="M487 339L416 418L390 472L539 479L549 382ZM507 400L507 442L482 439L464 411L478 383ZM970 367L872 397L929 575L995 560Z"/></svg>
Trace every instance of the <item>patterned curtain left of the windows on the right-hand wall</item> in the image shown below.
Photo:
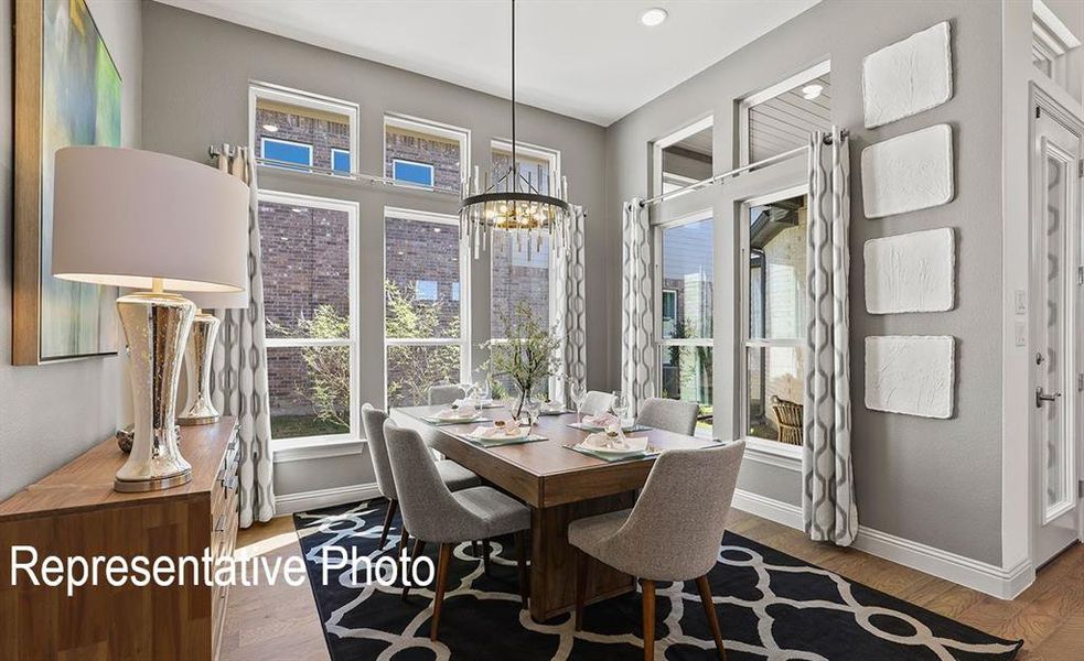
<svg viewBox="0 0 1084 661"><path fill-rule="evenodd" d="M655 397L655 314L652 310L651 228L640 199L625 203L621 234L621 387L629 414Z"/></svg>

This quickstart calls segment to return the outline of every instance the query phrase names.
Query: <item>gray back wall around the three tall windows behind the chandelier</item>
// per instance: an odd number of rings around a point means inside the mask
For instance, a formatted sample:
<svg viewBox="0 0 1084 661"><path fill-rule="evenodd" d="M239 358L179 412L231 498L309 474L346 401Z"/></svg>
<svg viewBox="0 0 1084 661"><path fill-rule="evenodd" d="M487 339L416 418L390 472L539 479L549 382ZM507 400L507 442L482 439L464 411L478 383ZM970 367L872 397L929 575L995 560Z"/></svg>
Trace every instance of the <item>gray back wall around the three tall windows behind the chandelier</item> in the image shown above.
<svg viewBox="0 0 1084 661"><path fill-rule="evenodd" d="M401 112L463 127L472 131L472 161L490 169L490 140L507 138L508 102L401 69L305 45L225 23L175 8L148 3L143 58L143 144L147 149L187 159L206 159L211 143L247 143L249 80L262 80L323 94L361 107L358 169L383 169L383 117ZM476 35L484 37L484 35ZM604 129L559 115L522 107L519 140L561 151L572 201L590 215L587 234L588 383L608 387L613 372L607 347L616 336L605 314L611 281L620 273L608 268L613 235L604 225ZM388 191L335 181L313 185L312 177L290 173L262 176L260 187L354 199L361 204L362 400L383 402L383 296L385 205L454 213L447 197ZM475 289L487 291L489 262L475 262ZM472 325L481 339L490 327L489 301L476 296ZM333 459L279 464L279 494L308 491L373 481L369 459L352 455Z"/></svg>

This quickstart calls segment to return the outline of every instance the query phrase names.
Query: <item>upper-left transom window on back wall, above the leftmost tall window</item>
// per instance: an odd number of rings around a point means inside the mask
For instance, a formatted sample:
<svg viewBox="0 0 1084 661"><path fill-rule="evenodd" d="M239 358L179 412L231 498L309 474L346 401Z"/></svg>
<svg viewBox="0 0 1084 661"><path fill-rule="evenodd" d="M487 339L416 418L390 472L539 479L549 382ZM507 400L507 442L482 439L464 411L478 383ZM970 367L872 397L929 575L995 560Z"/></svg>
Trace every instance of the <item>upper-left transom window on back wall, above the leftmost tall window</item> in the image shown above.
<svg viewBox="0 0 1084 661"><path fill-rule="evenodd" d="M262 83L249 86L248 104L258 159L329 174L357 162L357 104Z"/></svg>

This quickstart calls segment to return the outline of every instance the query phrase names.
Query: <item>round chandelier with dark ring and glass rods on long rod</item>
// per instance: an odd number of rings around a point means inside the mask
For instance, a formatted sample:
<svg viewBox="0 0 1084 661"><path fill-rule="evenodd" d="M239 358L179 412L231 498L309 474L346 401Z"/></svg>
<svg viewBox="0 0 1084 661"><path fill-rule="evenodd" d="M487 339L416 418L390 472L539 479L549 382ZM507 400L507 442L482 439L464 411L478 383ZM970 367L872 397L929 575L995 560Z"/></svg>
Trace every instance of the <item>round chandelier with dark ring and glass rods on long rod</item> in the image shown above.
<svg viewBox="0 0 1084 661"><path fill-rule="evenodd" d="M516 151L516 0L512 0L512 164L508 170L485 177L474 166L473 176L463 180L463 202L460 206L460 236L473 246L477 259L480 248L492 241L492 231L515 232L516 248L528 253L541 249L541 239L549 235L555 243L567 240L568 180L550 172L545 181L534 181L519 172Z"/></svg>

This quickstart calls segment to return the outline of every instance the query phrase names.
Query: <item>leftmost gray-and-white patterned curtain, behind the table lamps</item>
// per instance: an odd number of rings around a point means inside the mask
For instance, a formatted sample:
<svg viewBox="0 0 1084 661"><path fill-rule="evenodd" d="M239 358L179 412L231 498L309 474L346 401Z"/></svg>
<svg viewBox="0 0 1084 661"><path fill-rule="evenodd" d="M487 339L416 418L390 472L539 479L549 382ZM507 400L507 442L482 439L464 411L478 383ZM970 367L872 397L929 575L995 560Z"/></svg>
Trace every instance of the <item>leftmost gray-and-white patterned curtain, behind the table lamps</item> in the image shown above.
<svg viewBox="0 0 1084 661"><path fill-rule="evenodd" d="M270 521L275 516L271 488L271 419L267 397L267 343L264 322L264 273L260 267L259 203L256 166L248 149L222 145L218 169L248 184L248 310L218 310L222 321L212 362L213 401L239 425L240 467L237 500L239 524Z"/></svg>

